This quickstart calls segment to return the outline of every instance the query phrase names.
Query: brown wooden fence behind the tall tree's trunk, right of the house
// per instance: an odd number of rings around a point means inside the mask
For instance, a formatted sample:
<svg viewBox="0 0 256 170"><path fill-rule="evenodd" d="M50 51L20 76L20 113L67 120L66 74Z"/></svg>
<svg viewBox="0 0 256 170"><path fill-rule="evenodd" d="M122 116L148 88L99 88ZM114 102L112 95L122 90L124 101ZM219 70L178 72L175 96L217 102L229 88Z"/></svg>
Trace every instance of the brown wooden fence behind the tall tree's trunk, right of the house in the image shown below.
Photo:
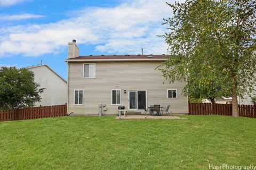
<svg viewBox="0 0 256 170"><path fill-rule="evenodd" d="M232 115L232 104L189 103L188 109L191 115ZM238 113L256 118L256 105L238 105Z"/></svg>

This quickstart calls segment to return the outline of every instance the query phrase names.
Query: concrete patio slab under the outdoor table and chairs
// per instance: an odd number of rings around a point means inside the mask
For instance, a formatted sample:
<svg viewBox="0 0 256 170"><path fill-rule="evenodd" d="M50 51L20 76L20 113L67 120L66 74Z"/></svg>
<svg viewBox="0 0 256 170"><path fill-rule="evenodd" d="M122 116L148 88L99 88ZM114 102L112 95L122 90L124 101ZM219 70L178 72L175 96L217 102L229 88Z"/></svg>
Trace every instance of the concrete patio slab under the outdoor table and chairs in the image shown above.
<svg viewBox="0 0 256 170"><path fill-rule="evenodd" d="M150 116L150 115L125 115L116 119L186 119L178 116Z"/></svg>

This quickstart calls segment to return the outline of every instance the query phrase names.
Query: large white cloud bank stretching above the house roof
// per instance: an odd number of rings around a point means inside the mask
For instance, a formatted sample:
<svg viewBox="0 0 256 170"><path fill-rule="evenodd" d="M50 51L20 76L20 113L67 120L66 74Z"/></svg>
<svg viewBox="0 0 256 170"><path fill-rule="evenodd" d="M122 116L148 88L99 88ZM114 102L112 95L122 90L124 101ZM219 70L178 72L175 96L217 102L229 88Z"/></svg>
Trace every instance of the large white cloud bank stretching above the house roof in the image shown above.
<svg viewBox="0 0 256 170"><path fill-rule="evenodd" d="M162 19L171 15L165 1L134 0L70 13L72 18L56 23L0 28L0 56L56 54L72 39L81 47L94 45L101 54L137 54L140 48L147 54L166 53L164 39L157 37L166 31Z"/></svg>

